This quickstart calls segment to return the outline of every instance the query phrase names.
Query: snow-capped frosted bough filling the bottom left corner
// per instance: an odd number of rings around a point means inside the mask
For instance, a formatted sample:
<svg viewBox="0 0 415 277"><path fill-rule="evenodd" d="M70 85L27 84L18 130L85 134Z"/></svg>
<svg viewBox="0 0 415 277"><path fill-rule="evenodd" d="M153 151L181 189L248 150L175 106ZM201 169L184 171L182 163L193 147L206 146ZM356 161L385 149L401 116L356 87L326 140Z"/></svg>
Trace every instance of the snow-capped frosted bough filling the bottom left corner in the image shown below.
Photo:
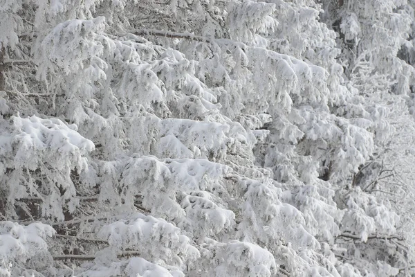
<svg viewBox="0 0 415 277"><path fill-rule="evenodd" d="M0 222L0 273L2 276L26 276L30 269L47 269L52 257L46 238L55 230L46 224L22 226L15 222Z"/></svg>

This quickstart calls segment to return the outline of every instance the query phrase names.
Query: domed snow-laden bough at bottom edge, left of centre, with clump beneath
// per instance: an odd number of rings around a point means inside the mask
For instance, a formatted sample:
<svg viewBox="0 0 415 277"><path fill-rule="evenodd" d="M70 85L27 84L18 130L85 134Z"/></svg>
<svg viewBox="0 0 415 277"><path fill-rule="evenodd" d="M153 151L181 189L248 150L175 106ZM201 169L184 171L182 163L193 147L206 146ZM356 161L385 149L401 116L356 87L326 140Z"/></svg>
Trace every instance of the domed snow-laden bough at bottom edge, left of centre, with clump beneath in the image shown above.
<svg viewBox="0 0 415 277"><path fill-rule="evenodd" d="M200 258L190 238L172 223L135 213L102 226L98 237L109 242L79 276L185 276L183 271ZM133 251L131 251L133 249ZM133 253L131 253L133 252ZM121 260L120 257L140 256ZM88 268L90 267L90 268Z"/></svg>

